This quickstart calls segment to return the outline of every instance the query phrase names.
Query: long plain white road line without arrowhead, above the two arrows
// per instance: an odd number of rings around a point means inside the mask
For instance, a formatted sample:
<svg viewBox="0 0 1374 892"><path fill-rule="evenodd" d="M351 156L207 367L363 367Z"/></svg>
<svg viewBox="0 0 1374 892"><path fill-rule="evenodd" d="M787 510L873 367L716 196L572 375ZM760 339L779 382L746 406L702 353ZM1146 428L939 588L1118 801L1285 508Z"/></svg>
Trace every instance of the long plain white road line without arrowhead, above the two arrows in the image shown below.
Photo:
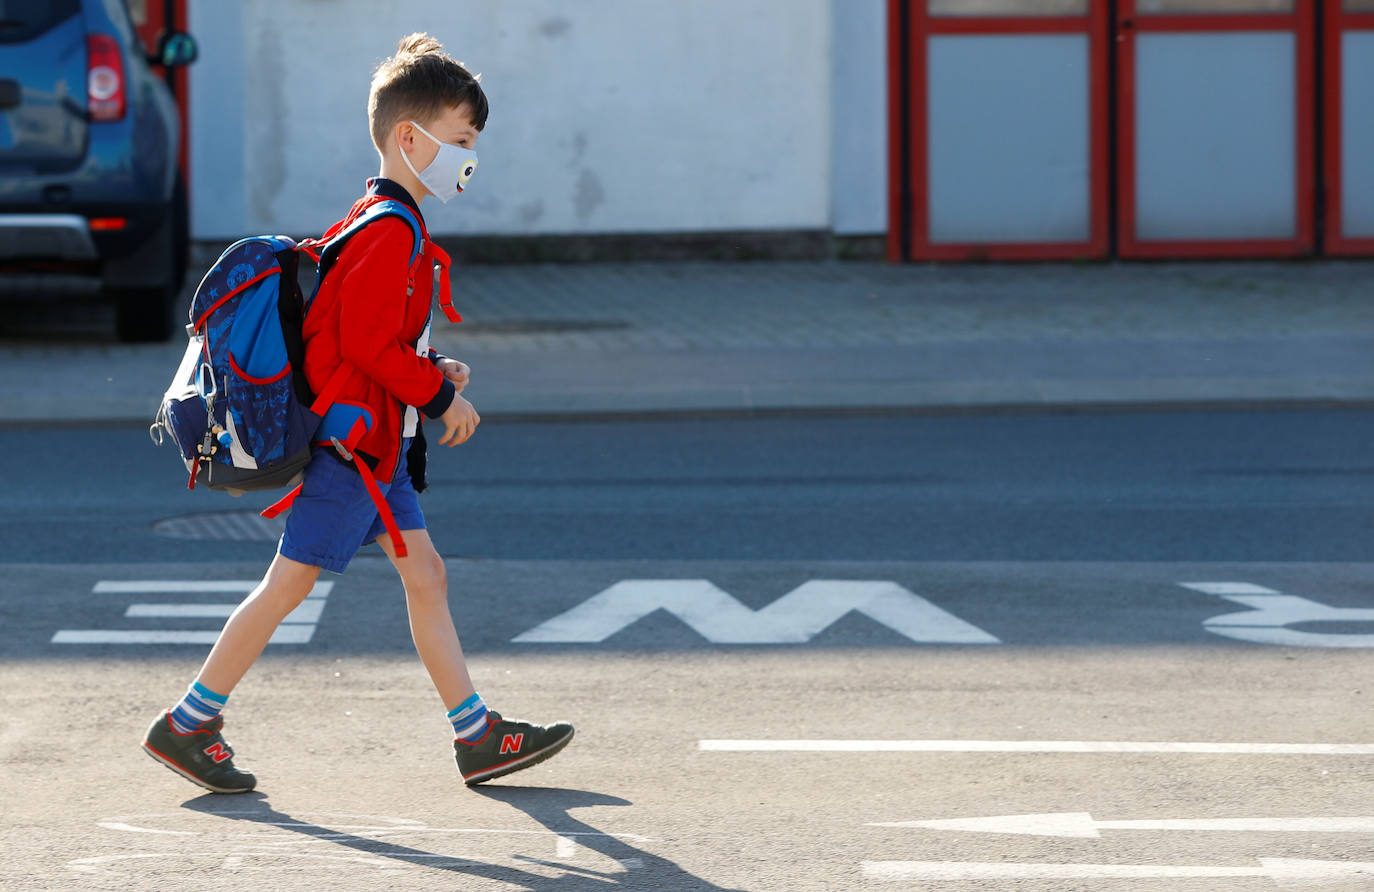
<svg viewBox="0 0 1374 892"><path fill-rule="evenodd" d="M1216 753L1371 756L1374 744L1176 744L1135 741L703 739L717 753Z"/></svg>

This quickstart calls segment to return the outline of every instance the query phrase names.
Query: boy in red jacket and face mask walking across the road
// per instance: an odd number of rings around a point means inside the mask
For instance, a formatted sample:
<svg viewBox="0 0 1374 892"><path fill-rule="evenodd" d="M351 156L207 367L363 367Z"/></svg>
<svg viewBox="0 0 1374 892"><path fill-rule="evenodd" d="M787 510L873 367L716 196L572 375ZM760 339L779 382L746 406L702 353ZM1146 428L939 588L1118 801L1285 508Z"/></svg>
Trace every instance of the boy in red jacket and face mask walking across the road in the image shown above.
<svg viewBox="0 0 1374 892"><path fill-rule="evenodd" d="M478 80L426 34L401 40L372 77L368 121L381 175L337 227L381 201L408 205L420 220L426 194L447 202L477 166L473 148L486 125ZM352 372L334 411L363 418L367 432L349 455L319 445L291 507L276 558L220 632L185 695L148 728L143 749L188 781L217 793L246 793L257 779L234 764L220 715L229 693L261 656L272 632L311 592L322 569L342 573L370 542L392 559L405 588L411 636L453 727L459 772L469 785L537 764L573 739L573 727L503 719L473 687L448 610L444 561L434 550L416 493L425 488L425 436L418 412L444 425L440 445L455 447L481 421L463 399L469 368L429 346L433 269L427 232L394 216L368 223L344 247L306 316L305 375L320 393L345 364ZM414 275L419 269L425 275ZM418 410L418 411L416 411ZM324 425L330 425L328 415ZM386 533L356 462L365 462L385 498L403 548Z"/></svg>

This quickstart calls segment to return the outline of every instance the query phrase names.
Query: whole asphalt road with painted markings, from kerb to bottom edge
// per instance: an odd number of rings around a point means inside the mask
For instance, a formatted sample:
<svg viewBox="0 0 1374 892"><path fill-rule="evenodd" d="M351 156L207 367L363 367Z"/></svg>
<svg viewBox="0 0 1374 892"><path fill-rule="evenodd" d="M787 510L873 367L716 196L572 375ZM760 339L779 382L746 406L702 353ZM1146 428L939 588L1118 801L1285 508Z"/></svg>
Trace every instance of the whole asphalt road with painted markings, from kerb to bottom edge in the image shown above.
<svg viewBox="0 0 1374 892"><path fill-rule="evenodd" d="M1371 423L484 426L425 496L451 601L488 701L577 739L464 789L372 553L234 693L245 797L137 741L251 503L0 430L0 888L1374 888ZM214 529L258 540L162 535Z"/></svg>

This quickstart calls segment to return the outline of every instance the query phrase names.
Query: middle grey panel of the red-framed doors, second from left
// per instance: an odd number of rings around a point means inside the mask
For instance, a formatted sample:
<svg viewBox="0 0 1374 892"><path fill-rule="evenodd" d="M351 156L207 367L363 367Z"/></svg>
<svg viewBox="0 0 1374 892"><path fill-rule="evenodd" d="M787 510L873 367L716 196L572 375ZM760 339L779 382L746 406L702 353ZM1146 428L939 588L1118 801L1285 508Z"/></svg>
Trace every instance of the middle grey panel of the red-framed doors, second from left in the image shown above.
<svg viewBox="0 0 1374 892"><path fill-rule="evenodd" d="M1136 238L1296 234L1292 34L1139 34Z"/></svg>

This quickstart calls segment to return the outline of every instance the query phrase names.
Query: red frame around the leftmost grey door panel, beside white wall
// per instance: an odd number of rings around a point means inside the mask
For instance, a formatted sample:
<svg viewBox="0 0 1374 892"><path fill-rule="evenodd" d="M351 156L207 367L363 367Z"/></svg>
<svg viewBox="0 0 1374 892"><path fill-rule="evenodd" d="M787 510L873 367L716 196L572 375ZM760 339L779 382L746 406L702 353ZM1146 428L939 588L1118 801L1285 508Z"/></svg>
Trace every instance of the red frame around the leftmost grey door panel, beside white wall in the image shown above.
<svg viewBox="0 0 1374 892"><path fill-rule="evenodd" d="M899 48L901 5L908 19L910 66L907 73L908 107L901 109ZM889 242L893 260L901 256L903 195L905 175L911 187L911 242L912 260L1072 260L1101 258L1109 250L1109 95L1107 76L1107 10L1101 0L1090 0L1085 15L1054 16L932 16L925 0L889 0L888 33L893 52L889 70L889 109L892 132L889 143ZM996 242L996 243L932 243L930 242L930 158L929 158L929 102L927 102L927 40L936 34L1085 34L1088 37L1088 238L1083 242ZM901 111L910 125L908 169L901 169Z"/></svg>

